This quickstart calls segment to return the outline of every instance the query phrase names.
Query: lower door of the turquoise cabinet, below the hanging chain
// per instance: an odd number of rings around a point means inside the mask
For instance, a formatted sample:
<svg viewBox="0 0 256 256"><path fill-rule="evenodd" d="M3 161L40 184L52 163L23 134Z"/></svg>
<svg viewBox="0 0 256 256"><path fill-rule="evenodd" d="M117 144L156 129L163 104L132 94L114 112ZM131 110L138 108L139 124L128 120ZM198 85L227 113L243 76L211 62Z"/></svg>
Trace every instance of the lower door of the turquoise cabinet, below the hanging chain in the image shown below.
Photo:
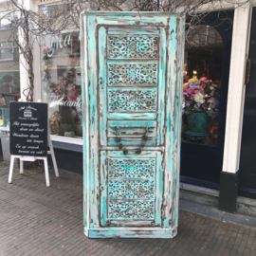
<svg viewBox="0 0 256 256"><path fill-rule="evenodd" d="M101 226L161 226L163 157L101 151Z"/></svg>

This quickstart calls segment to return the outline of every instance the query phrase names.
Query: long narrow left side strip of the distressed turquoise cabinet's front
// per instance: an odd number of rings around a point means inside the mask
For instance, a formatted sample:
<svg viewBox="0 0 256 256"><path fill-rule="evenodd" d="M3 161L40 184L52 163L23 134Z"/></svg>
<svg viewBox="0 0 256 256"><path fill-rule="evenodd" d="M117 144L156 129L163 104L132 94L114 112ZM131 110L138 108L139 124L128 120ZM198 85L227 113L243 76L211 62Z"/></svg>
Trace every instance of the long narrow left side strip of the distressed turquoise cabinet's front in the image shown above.
<svg viewBox="0 0 256 256"><path fill-rule="evenodd" d="M89 124L89 166L88 172L88 206L89 206L89 221L90 229L100 227L99 225L99 132L98 132L98 64L97 64L97 49L98 49L98 29L96 16L87 17L88 31L88 49L87 49L87 86L88 86L88 104L89 115L87 117Z"/></svg>

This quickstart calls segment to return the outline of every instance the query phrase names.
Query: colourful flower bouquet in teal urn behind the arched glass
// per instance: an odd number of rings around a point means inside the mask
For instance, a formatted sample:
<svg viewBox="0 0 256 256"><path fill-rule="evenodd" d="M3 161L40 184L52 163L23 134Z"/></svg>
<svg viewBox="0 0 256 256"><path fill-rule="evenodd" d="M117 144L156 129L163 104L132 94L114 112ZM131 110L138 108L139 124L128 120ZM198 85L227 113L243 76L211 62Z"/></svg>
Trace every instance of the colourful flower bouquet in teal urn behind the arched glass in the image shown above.
<svg viewBox="0 0 256 256"><path fill-rule="evenodd" d="M218 116L219 84L203 77L183 86L183 113L192 134L209 133L210 119Z"/></svg>

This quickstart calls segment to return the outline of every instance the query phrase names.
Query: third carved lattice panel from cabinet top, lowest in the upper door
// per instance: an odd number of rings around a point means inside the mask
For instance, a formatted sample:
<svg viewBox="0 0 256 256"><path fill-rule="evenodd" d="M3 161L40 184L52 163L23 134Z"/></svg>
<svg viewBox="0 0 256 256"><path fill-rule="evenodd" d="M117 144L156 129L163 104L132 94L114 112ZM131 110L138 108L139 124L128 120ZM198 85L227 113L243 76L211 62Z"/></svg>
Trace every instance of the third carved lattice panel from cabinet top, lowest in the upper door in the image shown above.
<svg viewBox="0 0 256 256"><path fill-rule="evenodd" d="M156 111L156 89L111 90L108 91L108 109L110 112L121 111Z"/></svg>

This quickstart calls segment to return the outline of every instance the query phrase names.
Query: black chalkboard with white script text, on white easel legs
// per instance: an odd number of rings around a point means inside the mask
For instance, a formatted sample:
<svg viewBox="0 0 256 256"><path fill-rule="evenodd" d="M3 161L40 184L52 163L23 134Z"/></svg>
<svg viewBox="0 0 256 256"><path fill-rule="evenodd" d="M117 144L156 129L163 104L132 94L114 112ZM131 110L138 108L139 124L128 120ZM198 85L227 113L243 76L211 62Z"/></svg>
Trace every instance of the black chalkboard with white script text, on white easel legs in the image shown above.
<svg viewBox="0 0 256 256"><path fill-rule="evenodd" d="M48 105L10 102L9 151L11 155L47 155Z"/></svg>

